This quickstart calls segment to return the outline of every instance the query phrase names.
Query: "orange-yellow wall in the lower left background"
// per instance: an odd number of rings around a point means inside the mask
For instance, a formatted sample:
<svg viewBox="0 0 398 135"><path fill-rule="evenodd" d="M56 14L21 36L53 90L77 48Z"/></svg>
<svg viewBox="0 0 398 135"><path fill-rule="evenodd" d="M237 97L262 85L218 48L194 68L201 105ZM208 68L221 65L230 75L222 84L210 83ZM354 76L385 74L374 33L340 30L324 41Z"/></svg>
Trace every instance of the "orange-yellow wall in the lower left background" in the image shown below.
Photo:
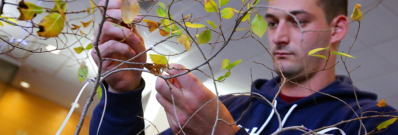
<svg viewBox="0 0 398 135"><path fill-rule="evenodd" d="M0 82L0 135L55 135L70 108ZM61 135L73 135L80 113L74 112ZM80 135L88 135L86 117Z"/></svg>

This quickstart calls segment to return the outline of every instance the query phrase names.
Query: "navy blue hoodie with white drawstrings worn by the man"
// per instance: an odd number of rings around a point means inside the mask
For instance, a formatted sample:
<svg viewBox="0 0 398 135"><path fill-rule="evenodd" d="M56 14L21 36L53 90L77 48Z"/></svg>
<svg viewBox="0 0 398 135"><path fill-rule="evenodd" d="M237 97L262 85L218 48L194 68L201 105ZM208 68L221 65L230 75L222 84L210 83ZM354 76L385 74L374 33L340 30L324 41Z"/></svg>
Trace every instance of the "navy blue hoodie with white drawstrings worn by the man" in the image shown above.
<svg viewBox="0 0 398 135"><path fill-rule="evenodd" d="M144 81L142 80L141 82ZM265 99L272 101L279 89L277 83L280 83L280 78L275 78L275 80L256 80L252 86L252 92L259 93L265 97ZM108 91L107 108L104 120L98 133L99 135L136 135L141 129L143 129L143 121L137 117L137 115L143 115L140 101L140 93L143 87L144 83L142 83L139 89L129 91L127 93L110 93ZM363 112L396 111L390 106L382 106L379 109L377 106L377 101L375 101L377 99L376 94L359 91L356 87L355 90L359 105L361 106ZM336 81L326 86L324 89L321 89L320 92L327 93L345 101L360 116L360 110L355 99L353 87L348 77L336 76ZM286 103L278 96L276 100L276 108L281 116L281 119L283 120L283 127L304 125L304 127L313 130L328 125L334 125L343 120L357 118L351 108L338 99L330 97L329 95L314 93L292 103ZM235 135L270 135L279 127L277 116L273 113L269 103L267 103L264 99L259 98L257 95L254 95L254 97L245 95L232 98L221 97L220 100L223 101L223 104L226 106L226 108L228 108L234 120L238 120L242 116L242 113L250 105L250 101L252 102L250 108L237 122L237 125L242 126L242 128L235 133ZM102 98L101 102L94 109L90 123L90 135L96 135L97 133L104 101L104 98ZM363 116L373 115L380 114L376 112L367 112ZM398 116L398 113L389 113L384 115ZM375 127L379 123L389 119L389 117L364 119L363 124L365 125L367 132L373 130L377 132L378 130L375 129ZM357 135L359 130L359 121L357 120L354 122L337 125L336 127L342 129L347 135ZM289 130L280 134L300 135L302 133L302 131L298 130ZM341 135L339 130L332 130L326 133ZM168 129L161 134L172 135L173 133L171 129ZM390 125L390 127L388 127L385 131L382 131L377 135L396 134L398 134L398 122Z"/></svg>

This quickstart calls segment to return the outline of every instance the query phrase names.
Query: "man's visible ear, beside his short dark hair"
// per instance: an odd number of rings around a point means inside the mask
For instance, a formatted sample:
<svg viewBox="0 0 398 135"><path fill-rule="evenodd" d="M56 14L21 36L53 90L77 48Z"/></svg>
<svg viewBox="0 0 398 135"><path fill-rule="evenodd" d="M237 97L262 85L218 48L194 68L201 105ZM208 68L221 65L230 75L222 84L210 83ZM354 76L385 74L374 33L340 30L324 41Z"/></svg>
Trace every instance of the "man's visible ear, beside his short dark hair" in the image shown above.
<svg viewBox="0 0 398 135"><path fill-rule="evenodd" d="M333 19L330 23L332 28L332 36L330 38L330 44L338 44L345 37L348 31L348 18L345 15L339 15Z"/></svg>

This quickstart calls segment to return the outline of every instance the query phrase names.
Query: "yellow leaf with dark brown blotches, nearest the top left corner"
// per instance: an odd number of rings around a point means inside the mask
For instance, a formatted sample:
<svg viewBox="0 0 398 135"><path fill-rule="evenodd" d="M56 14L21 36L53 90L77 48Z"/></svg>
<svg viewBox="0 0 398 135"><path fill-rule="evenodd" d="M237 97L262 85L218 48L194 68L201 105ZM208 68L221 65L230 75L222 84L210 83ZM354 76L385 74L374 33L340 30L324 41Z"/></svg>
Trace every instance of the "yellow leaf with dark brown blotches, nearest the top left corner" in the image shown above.
<svg viewBox="0 0 398 135"><path fill-rule="evenodd" d="M31 20L33 19L33 17L36 16L36 14L43 13L44 11L43 8L35 4L31 4L29 2L24 2L24 1L21 1L18 4L18 10L21 13L18 20Z"/></svg>

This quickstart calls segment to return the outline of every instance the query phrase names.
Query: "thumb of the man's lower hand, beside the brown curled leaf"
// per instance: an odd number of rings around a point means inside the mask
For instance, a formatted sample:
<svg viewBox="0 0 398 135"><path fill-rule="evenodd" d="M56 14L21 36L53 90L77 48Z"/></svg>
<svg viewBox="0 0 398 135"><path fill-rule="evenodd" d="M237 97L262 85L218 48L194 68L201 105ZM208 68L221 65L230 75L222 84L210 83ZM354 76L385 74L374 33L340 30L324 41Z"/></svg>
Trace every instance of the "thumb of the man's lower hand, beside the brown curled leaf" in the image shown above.
<svg viewBox="0 0 398 135"><path fill-rule="evenodd" d="M174 76L177 74L181 74L183 72L187 72L188 69L185 68L183 65L179 65L179 64L170 64L169 66L169 70L167 70L167 72ZM181 87L184 90L193 90L192 88L197 88L198 85L200 85L201 87L204 87L202 82L200 82L192 73L187 73L184 74L182 76L178 76L176 77L177 82L181 85ZM175 84L175 82L172 82L173 84Z"/></svg>

